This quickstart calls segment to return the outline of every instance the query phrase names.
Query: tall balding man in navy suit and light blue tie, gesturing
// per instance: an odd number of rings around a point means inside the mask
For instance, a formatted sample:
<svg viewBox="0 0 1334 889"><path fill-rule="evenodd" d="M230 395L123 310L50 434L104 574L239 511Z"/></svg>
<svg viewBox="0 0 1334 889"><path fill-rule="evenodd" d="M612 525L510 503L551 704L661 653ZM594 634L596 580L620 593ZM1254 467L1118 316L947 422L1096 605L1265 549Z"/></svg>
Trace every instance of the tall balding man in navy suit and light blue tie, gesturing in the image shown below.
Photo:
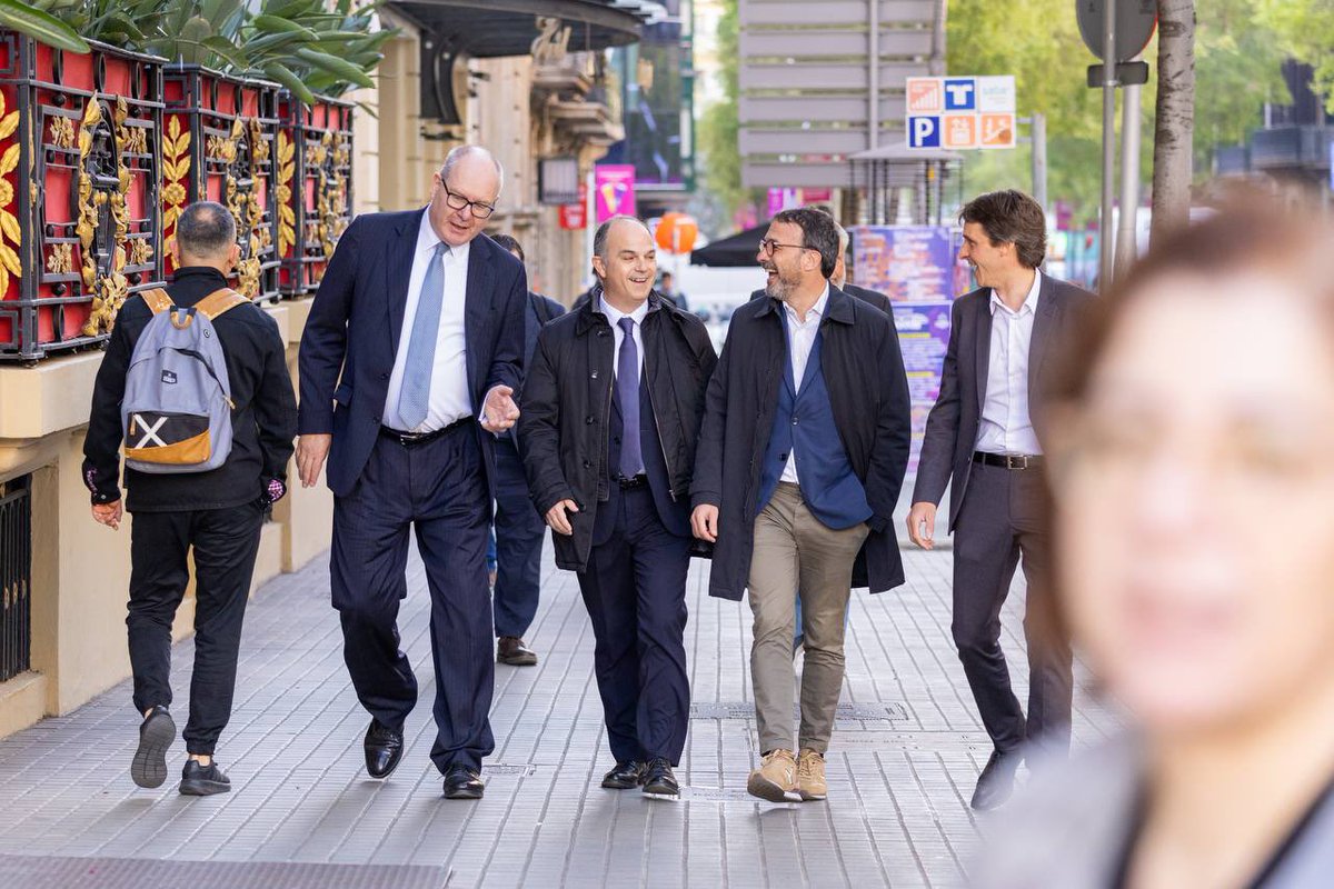
<svg viewBox="0 0 1334 889"><path fill-rule="evenodd" d="M371 713L366 766L403 756L418 684L399 648L408 534L431 590L431 760L447 798L483 793L495 742L486 549L494 436L519 419L523 263L482 235L503 180L483 148L450 152L426 209L359 216L343 233L301 335L301 484L328 458L329 574L343 654Z"/></svg>

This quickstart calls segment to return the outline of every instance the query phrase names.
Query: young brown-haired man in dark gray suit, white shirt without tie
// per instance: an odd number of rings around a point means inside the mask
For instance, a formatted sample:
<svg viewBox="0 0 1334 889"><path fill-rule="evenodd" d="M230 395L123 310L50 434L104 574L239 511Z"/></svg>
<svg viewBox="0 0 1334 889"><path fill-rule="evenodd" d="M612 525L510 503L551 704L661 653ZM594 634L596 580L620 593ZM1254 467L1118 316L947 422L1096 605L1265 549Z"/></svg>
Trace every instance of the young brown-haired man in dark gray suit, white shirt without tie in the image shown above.
<svg viewBox="0 0 1334 889"><path fill-rule="evenodd" d="M954 545L954 644L994 752L972 808L994 809L1014 788L1025 741L1070 746L1070 646L1038 626L1034 602L1050 596L1042 393L1050 355L1091 293L1038 271L1046 255L1042 208L1017 191L974 199L959 213L959 259L980 285L954 303L940 396L927 417L908 536L931 549L946 485ZM1000 606L1023 556L1029 584L1029 716L1000 650Z"/></svg>

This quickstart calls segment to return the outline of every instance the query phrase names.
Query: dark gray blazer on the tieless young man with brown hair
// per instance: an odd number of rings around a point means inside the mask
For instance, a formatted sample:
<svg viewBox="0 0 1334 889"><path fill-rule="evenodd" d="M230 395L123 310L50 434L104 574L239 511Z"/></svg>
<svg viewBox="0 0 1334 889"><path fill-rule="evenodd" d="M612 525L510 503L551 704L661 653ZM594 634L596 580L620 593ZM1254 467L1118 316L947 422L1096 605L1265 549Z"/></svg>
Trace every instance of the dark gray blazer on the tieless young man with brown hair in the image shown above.
<svg viewBox="0 0 1334 889"><path fill-rule="evenodd" d="M1051 391L1055 368L1047 359L1054 345L1069 339L1079 311L1094 299L1074 284L1042 276L1038 316L1029 345L1029 411L1039 427L1043 396ZM968 490L972 446L982 423L987 397L987 369L991 356L991 288L982 287L954 301L950 313L950 345L944 353L940 395L926 421L926 437L918 460L912 502L939 504L954 478L950 494L950 530ZM1041 440L1041 429L1039 429Z"/></svg>

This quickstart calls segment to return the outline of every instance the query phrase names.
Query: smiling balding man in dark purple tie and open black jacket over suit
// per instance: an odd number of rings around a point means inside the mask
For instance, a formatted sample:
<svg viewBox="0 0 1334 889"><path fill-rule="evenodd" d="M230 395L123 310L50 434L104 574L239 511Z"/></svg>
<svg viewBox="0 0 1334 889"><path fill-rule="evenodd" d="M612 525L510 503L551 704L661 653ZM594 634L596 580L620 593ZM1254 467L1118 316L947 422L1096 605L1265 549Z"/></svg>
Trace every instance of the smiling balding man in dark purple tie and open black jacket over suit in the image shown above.
<svg viewBox="0 0 1334 889"><path fill-rule="evenodd" d="M704 323L652 291L654 239L618 216L594 237L588 303L538 337L519 425L556 564L579 573L612 790L679 792L690 724L690 480L716 356Z"/></svg>

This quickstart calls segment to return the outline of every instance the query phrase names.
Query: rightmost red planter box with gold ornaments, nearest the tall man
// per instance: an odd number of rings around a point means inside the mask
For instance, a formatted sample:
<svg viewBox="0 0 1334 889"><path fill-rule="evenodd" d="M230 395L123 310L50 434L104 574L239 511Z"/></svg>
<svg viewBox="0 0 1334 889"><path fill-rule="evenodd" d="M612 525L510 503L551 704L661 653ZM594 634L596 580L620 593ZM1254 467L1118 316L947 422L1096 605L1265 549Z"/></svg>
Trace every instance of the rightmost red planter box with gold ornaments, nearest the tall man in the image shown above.
<svg viewBox="0 0 1334 889"><path fill-rule="evenodd" d="M277 95L280 289L313 293L352 221L352 103Z"/></svg>

